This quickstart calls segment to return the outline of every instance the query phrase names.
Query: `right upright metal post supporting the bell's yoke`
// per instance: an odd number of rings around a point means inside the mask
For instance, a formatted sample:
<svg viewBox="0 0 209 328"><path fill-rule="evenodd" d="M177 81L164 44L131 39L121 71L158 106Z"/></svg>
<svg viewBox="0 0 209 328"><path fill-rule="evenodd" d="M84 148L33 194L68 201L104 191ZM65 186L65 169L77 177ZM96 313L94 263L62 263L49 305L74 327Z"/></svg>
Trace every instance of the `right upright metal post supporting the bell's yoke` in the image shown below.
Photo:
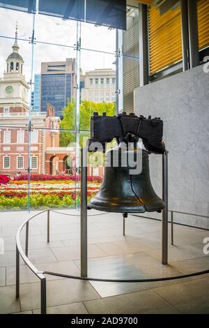
<svg viewBox="0 0 209 328"><path fill-rule="evenodd" d="M168 151L162 154L162 264L168 264Z"/></svg>

